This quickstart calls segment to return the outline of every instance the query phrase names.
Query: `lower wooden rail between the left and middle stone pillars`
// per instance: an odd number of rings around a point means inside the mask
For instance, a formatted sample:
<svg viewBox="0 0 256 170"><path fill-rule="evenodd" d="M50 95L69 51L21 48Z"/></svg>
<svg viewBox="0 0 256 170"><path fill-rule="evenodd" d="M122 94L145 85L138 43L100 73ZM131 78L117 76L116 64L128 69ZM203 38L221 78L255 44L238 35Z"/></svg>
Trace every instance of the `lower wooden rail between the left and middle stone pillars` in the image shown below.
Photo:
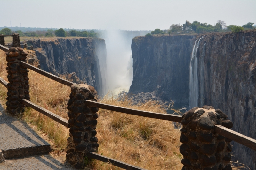
<svg viewBox="0 0 256 170"><path fill-rule="evenodd" d="M35 109L36 111L46 115L47 117L50 117L52 120L66 126L68 128L68 120L60 117L59 115L56 115L56 114L50 112L49 110L47 110L47 109L45 109L41 106L38 106L35 103L33 103L33 102L31 102L27 99L22 99L22 104L27 105L27 106Z"/></svg>

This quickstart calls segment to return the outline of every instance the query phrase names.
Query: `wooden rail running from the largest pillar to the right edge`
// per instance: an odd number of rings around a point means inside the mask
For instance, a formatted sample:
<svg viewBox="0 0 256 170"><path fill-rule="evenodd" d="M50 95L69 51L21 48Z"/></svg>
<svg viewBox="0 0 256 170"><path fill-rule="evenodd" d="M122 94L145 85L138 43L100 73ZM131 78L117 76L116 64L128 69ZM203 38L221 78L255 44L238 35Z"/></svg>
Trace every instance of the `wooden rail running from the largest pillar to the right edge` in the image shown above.
<svg viewBox="0 0 256 170"><path fill-rule="evenodd" d="M225 128L221 125L214 125L214 131L224 137L227 137L228 139L236 141L237 143L247 146L248 148L256 151L256 140L252 139L251 137L247 137L245 135L242 135L241 133Z"/></svg>

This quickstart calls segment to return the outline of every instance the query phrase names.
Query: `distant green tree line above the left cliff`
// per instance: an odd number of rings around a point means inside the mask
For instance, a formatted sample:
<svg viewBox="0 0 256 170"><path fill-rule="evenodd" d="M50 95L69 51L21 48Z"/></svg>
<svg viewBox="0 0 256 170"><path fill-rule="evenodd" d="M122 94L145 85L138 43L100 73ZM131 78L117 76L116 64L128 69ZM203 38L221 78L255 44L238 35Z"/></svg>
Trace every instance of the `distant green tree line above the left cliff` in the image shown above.
<svg viewBox="0 0 256 170"><path fill-rule="evenodd" d="M98 37L98 33L95 33L93 30L91 31L76 31L76 30L70 30L70 31L65 31L63 28L57 29L53 31L52 29L48 29L47 31L26 31L23 32L21 30L17 31L12 31L10 28L3 28L0 30L0 34L3 35L11 35L12 33L18 33L20 34L21 37L26 36L26 37Z"/></svg>

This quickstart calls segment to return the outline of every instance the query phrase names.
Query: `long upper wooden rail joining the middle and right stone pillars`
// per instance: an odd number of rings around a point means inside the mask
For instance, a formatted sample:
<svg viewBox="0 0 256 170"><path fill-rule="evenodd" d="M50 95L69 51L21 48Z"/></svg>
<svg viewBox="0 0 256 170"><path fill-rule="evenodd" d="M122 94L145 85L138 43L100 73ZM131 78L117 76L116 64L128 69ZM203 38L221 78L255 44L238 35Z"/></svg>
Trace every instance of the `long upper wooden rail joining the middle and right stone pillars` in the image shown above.
<svg viewBox="0 0 256 170"><path fill-rule="evenodd" d="M137 110L137 109L131 109L131 108L126 108L126 107L98 103L98 102L89 101L89 100L85 101L85 104L90 107L98 107L98 108L102 108L102 109L106 109L106 110L127 113L130 115L137 115L137 116L143 116L143 117L149 117L149 118L155 118L155 119L161 119L161 120L167 120L167 121L173 121L173 122L181 121L181 116L179 116L179 115L147 112L147 111L142 111L142 110Z"/></svg>

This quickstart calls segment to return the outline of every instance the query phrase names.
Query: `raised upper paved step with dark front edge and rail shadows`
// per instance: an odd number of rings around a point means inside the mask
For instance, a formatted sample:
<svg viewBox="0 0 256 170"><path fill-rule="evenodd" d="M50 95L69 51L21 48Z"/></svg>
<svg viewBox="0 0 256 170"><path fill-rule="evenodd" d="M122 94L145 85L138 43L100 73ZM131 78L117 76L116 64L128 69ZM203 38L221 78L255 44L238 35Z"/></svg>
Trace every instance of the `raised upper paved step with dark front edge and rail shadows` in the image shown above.
<svg viewBox="0 0 256 170"><path fill-rule="evenodd" d="M17 158L49 153L50 144L26 123L6 115L0 105L0 150L4 158Z"/></svg>

